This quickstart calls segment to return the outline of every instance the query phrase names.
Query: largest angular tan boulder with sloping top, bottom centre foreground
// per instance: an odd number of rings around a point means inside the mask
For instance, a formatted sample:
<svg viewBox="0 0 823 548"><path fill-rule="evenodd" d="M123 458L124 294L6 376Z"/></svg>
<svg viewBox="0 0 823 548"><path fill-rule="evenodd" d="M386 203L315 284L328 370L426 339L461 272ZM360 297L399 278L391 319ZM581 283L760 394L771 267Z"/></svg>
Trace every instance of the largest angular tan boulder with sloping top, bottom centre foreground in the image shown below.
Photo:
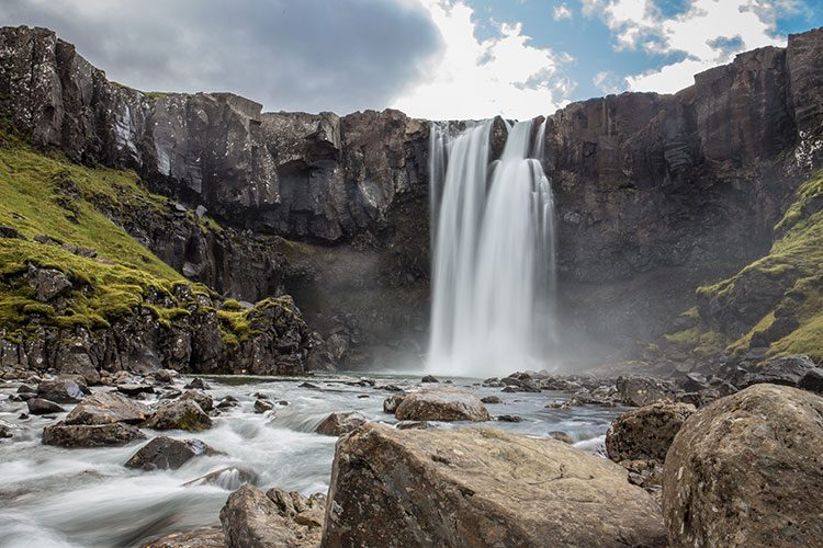
<svg viewBox="0 0 823 548"><path fill-rule="evenodd" d="M323 546L663 546L627 471L554 439L367 424L337 443Z"/></svg>

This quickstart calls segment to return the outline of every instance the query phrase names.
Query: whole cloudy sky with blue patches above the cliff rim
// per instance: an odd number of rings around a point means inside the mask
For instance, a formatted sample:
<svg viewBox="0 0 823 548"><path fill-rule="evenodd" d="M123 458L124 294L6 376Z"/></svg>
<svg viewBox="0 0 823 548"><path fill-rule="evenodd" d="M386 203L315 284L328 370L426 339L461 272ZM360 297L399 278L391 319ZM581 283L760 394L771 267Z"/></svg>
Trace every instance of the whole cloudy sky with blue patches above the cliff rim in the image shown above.
<svg viewBox="0 0 823 548"><path fill-rule="evenodd" d="M823 26L823 0L3 0L0 24L53 28L144 91L525 119L609 93L674 93Z"/></svg>

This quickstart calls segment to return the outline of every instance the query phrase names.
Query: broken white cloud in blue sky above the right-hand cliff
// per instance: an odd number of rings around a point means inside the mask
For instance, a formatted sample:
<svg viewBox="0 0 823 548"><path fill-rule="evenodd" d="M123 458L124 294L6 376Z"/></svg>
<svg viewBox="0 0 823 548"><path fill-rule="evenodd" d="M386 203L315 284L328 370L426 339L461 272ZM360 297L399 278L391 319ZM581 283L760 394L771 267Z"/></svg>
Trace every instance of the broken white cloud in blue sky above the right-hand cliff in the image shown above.
<svg viewBox="0 0 823 548"><path fill-rule="evenodd" d="M615 35L615 49L686 55L677 61L625 78L628 89L673 93L694 83L694 75L731 61L734 55L783 45L776 34L778 13L805 9L800 0L689 0L666 18L652 0L583 0L583 13L600 16Z"/></svg>

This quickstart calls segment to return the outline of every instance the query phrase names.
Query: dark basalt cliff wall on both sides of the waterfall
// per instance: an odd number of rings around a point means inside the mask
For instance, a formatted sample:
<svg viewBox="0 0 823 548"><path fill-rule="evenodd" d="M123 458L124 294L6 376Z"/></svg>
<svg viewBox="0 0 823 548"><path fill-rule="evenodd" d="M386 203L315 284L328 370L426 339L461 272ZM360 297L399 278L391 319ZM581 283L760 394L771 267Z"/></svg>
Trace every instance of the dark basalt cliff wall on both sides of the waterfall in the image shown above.
<svg viewBox="0 0 823 548"><path fill-rule="evenodd" d="M821 165L822 89L818 30L742 54L674 95L609 95L549 117L543 165L557 202L570 353L667 332L698 285L768 250L799 181ZM134 169L228 227L218 237L125 226L192 279L245 300L291 293L309 326L354 357L421 350L428 122L144 93L27 27L0 32L0 109L35 145Z"/></svg>

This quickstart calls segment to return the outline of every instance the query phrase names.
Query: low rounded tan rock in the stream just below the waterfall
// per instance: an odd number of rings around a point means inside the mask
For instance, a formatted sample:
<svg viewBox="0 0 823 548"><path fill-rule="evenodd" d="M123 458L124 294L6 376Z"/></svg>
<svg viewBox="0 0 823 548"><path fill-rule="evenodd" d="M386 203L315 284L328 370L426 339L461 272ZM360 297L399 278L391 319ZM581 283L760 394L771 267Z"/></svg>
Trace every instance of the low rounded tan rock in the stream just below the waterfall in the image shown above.
<svg viewBox="0 0 823 548"><path fill-rule="evenodd" d="M422 390L407 395L394 412L401 421L488 421L486 407L473 393Z"/></svg>

